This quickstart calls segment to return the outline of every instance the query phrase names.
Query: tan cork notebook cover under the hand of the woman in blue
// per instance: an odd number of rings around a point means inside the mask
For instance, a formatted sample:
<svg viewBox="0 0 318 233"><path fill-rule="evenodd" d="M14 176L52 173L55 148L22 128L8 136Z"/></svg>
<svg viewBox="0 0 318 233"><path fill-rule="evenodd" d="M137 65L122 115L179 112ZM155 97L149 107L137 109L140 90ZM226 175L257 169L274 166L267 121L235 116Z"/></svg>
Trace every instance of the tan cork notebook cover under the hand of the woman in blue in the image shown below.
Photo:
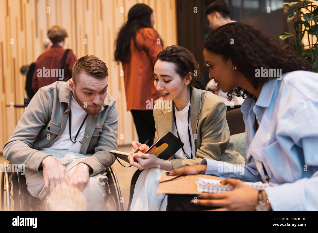
<svg viewBox="0 0 318 233"><path fill-rule="evenodd" d="M161 174L160 182L172 179L176 176L167 176L166 171L163 171ZM224 178L209 176L209 175L187 175L181 176L174 180L166 181L163 183L159 183L157 194L165 193L165 194L200 194L197 191L196 180L198 178L207 178L207 179L217 179L223 180Z"/></svg>

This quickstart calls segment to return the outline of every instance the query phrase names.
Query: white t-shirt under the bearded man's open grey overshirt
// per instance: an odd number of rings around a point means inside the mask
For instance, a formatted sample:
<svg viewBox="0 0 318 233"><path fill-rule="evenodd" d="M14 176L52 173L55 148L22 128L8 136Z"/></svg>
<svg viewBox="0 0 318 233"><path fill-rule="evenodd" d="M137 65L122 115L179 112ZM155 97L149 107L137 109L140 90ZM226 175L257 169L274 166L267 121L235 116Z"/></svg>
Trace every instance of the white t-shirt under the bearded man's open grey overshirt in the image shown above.
<svg viewBox="0 0 318 233"><path fill-rule="evenodd" d="M72 123L72 125L71 125L71 137L72 137L72 140L74 141L76 133L79 130L79 127L82 124L83 120L85 119L87 113L76 102L76 100L73 97L73 94L72 94L70 105L71 105L71 123ZM79 153L81 141L82 141L81 139L83 139L84 133L85 133L86 122L87 122L87 119L86 119L84 125L82 126L82 128L79 132L79 135L77 135L77 138L76 138L77 143L73 143L70 140L70 134L69 134L69 132L70 132L69 127L70 126L69 126L69 120L67 118L65 130L64 130L63 134L61 134L60 138L50 148L51 149L68 150L70 152Z"/></svg>

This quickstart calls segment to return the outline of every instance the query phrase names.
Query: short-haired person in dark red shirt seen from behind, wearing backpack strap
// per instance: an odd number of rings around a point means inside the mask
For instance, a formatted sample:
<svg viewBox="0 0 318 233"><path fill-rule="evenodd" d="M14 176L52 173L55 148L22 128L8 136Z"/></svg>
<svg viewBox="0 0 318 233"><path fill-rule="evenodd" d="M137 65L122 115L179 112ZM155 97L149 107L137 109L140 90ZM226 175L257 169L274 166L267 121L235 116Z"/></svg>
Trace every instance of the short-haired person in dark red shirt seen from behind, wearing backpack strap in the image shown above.
<svg viewBox="0 0 318 233"><path fill-rule="evenodd" d="M55 81L67 81L72 78L72 68L76 56L72 50L65 50L66 30L58 25L53 26L47 31L47 36L52 42L52 47L41 54L35 62L35 70L32 79L32 89L34 93L39 88L52 84ZM66 59L63 62L63 56ZM63 63L63 64L62 64Z"/></svg>

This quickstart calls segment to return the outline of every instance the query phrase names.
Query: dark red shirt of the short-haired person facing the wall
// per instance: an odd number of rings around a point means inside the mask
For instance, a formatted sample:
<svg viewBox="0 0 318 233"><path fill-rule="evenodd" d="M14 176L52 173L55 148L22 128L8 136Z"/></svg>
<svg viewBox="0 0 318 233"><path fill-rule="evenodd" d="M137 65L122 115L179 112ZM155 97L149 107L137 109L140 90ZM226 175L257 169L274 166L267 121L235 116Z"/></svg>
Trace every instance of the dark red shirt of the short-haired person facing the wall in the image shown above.
<svg viewBox="0 0 318 233"><path fill-rule="evenodd" d="M32 79L32 89L34 93L36 93L40 87L50 85L55 81L67 81L72 78L73 64L75 61L77 61L77 58L73 54L72 50L68 52L66 57L63 70L63 80L59 79L58 76L61 74L61 70L59 70L59 73L51 70L61 68L64 52L65 49L55 44L51 47L51 49L47 50L38 57L37 61L35 62L35 70ZM47 69L49 69L49 73L47 72Z"/></svg>

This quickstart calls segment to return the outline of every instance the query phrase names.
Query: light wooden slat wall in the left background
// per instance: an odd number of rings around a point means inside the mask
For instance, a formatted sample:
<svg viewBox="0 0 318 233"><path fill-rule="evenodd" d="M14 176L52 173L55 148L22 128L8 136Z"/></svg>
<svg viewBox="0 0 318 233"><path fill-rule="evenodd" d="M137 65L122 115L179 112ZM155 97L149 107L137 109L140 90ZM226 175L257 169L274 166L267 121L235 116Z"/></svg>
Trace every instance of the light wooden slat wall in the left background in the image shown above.
<svg viewBox="0 0 318 233"><path fill-rule="evenodd" d="M108 91L117 100L119 112L118 145L138 139L131 113L126 111L122 67L114 61L115 37L135 3L154 10L154 28L164 46L177 43L175 0L0 0L0 152L24 112L23 108L6 107L10 102L23 105L26 97L20 67L31 64L43 52L47 29L55 24L69 35L64 48L73 49L78 58L93 54L106 62ZM121 133L124 139L120 139Z"/></svg>

